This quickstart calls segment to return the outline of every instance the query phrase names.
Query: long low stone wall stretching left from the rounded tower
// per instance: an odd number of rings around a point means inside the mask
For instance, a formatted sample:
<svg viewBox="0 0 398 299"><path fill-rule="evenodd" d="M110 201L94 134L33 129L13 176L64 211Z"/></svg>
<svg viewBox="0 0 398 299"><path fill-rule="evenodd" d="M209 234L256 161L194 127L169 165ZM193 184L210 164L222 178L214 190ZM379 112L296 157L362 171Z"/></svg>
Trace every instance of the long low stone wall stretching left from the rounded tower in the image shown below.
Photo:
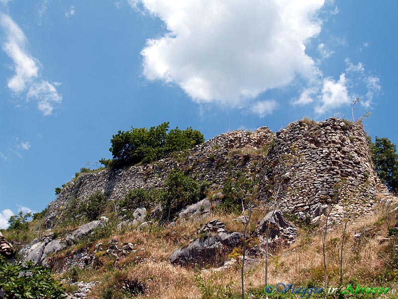
<svg viewBox="0 0 398 299"><path fill-rule="evenodd" d="M167 174L174 168L182 169L198 181L206 180L210 188L222 188L229 177L238 171L259 175L264 152L274 140L266 127L255 132L233 131L221 134L189 152L175 154L155 163L135 165L126 169L104 169L82 173L62 189L57 199L49 204L46 226L51 228L67 217L68 204L73 198L86 200L100 191L108 200L121 200L130 189L160 188Z"/></svg>

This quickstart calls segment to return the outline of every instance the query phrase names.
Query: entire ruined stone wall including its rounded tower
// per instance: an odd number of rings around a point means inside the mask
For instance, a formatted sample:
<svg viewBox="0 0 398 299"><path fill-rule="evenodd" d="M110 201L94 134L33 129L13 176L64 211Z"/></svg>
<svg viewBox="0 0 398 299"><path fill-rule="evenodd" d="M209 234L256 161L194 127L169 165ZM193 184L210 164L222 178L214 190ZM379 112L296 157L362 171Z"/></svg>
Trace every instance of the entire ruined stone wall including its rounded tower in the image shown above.
<svg viewBox="0 0 398 299"><path fill-rule="evenodd" d="M300 120L275 135L267 127L252 133L233 131L154 163L82 173L49 204L46 226L51 228L66 217L73 198L84 201L100 191L107 200L119 201L133 188L162 187L174 168L208 181L212 190L238 175L257 177L258 200L272 201L279 189L283 212L310 219L332 205L334 220L352 204L356 211L368 212L377 186L386 191L377 179L360 126L334 118L320 123Z"/></svg>

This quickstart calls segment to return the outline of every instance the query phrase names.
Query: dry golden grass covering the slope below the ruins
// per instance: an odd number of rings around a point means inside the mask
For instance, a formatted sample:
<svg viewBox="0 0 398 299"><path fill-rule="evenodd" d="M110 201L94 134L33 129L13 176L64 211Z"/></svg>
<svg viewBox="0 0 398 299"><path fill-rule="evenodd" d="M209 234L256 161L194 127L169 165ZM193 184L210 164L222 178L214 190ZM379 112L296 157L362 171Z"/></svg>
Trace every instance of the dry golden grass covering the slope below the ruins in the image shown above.
<svg viewBox="0 0 398 299"><path fill-rule="evenodd" d="M398 221L397 212L391 213L391 210L391 206L380 208L374 215L349 223L343 258L344 285L359 282L363 286L384 287L385 283L381 282L380 277L387 266L385 252L389 244L380 242L387 236L392 221ZM263 211L254 212L250 226L252 231L263 216ZM237 298L240 292L240 265L236 261L232 267L218 271L183 268L172 266L168 262L177 247L188 245L191 239L198 237L196 230L202 223L219 219L226 224L226 229L242 232L244 225L233 221L235 217L214 213L193 221L177 221L175 226L130 230L123 235L101 240L106 244L109 239L116 238L119 242L131 242L136 245L136 249L144 250L129 254L116 263L110 259L109 264L99 270L85 270L79 279L101 282L93 289L89 299ZM367 227L374 228L371 235L359 240L353 237ZM339 285L339 246L342 231L342 225L334 225L327 235L329 286ZM137 259L137 256L140 258ZM263 260L246 268L246 290L264 288L264 269ZM144 284L147 288L145 294L123 294L120 290L126 279ZM270 259L268 284L275 286L278 283L323 286L322 242L319 232L299 229L297 242ZM387 286L398 288L391 281ZM113 295L109 297L110 294Z"/></svg>

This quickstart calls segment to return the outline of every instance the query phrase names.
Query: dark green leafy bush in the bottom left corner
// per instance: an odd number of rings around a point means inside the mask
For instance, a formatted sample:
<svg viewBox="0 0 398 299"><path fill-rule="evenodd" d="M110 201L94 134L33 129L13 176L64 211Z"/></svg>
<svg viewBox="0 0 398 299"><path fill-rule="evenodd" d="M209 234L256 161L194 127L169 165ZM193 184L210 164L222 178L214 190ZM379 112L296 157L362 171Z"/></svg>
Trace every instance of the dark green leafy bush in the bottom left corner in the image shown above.
<svg viewBox="0 0 398 299"><path fill-rule="evenodd" d="M50 270L32 262L6 263L0 256L0 289L7 299L59 299L65 290L51 276Z"/></svg>

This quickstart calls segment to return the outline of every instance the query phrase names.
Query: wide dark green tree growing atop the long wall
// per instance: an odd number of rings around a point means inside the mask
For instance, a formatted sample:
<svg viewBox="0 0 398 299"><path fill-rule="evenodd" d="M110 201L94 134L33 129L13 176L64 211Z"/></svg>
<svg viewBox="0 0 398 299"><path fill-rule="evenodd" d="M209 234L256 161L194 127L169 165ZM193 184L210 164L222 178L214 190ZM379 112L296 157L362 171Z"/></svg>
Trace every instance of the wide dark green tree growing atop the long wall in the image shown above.
<svg viewBox="0 0 398 299"><path fill-rule="evenodd" d="M203 135L192 128L181 131L177 127L168 131L168 122L149 130L132 127L130 131L118 131L110 140L112 163L116 166L132 165L141 161L147 163L174 151L191 149L204 142Z"/></svg>

